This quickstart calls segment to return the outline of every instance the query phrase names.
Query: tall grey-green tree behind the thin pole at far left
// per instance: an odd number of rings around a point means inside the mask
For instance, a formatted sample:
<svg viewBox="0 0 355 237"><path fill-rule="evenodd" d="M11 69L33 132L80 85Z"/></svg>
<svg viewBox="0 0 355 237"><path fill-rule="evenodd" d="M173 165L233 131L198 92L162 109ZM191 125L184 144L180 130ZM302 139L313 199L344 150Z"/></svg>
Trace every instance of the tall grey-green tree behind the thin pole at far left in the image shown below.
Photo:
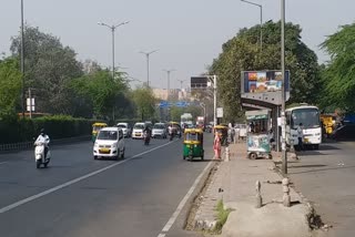
<svg viewBox="0 0 355 237"><path fill-rule="evenodd" d="M12 38L10 50L13 56L20 55L20 35ZM75 56L77 53L63 47L59 38L43 33L39 28L24 27L26 86L36 89L39 111L73 113L75 101L67 85L83 74Z"/></svg>

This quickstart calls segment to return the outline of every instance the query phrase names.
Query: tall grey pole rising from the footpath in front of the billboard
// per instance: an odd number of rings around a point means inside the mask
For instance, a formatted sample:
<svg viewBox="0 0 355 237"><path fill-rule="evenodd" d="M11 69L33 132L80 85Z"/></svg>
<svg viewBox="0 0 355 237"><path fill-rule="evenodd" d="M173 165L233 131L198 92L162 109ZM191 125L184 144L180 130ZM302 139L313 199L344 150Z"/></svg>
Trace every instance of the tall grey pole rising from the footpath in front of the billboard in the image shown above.
<svg viewBox="0 0 355 237"><path fill-rule="evenodd" d="M287 174L287 152L286 152L286 120L285 120L285 0L281 0L281 70L282 70L282 173Z"/></svg>

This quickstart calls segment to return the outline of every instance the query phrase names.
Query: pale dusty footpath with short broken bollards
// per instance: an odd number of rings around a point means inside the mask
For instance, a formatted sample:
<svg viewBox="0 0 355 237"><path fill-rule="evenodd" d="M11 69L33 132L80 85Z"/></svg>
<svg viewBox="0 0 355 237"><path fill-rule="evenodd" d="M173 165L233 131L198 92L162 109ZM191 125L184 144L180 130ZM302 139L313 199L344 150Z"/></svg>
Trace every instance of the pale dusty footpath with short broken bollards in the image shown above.
<svg viewBox="0 0 355 237"><path fill-rule="evenodd" d="M293 188L290 190L291 207L283 206L283 177L274 163L278 157L275 161L248 159L245 142L230 144L229 148L230 161L224 161L223 154L203 196L199 197L194 229L213 230L219 225L216 206L222 200L225 209L232 209L222 236L311 236L307 219L312 208ZM261 208L255 207L256 181L261 183Z"/></svg>

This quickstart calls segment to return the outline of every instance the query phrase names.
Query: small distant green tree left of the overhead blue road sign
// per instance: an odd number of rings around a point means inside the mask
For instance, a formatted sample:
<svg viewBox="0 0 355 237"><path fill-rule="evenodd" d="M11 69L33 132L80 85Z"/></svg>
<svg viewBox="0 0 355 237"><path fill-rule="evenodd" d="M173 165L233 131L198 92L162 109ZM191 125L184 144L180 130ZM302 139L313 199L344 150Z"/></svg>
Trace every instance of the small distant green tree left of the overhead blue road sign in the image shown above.
<svg viewBox="0 0 355 237"><path fill-rule="evenodd" d="M138 87L133 92L133 101L136 106L136 113L142 118L153 118L155 114L155 103L153 91L150 87Z"/></svg>

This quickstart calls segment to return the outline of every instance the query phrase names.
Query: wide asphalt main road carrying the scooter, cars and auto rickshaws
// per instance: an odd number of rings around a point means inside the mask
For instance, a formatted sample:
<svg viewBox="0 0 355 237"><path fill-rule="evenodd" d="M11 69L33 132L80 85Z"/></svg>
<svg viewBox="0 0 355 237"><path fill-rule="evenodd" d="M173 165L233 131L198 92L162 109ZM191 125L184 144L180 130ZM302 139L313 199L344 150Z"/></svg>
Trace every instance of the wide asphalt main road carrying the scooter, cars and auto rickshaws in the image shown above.
<svg viewBox="0 0 355 237"><path fill-rule="evenodd" d="M0 236L196 236L182 230L184 215L211 162L183 161L181 140L126 140L118 162L94 161L90 142L51 153L47 169L33 151L0 155Z"/></svg>

